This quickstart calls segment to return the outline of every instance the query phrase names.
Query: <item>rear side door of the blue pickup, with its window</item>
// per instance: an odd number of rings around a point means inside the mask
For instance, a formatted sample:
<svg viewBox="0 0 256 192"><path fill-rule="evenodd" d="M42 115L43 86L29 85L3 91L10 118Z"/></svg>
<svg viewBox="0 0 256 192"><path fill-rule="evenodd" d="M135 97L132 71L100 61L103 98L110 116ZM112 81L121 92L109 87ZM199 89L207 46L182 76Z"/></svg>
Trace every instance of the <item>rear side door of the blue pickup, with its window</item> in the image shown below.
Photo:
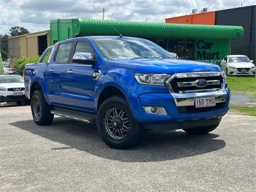
<svg viewBox="0 0 256 192"><path fill-rule="evenodd" d="M70 53L74 42L64 42L57 47L54 61L47 66L47 95L56 106L67 106L66 78L70 68Z"/></svg>

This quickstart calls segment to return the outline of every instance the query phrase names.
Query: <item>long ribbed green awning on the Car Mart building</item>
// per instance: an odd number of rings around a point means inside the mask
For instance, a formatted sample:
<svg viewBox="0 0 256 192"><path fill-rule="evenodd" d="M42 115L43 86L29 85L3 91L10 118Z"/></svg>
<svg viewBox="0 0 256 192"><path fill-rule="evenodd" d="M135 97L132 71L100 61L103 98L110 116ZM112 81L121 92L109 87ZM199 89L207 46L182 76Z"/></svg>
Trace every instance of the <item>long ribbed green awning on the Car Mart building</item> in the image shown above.
<svg viewBox="0 0 256 192"><path fill-rule="evenodd" d="M142 38L211 38L239 39L241 26L167 24L162 22L133 22L123 20L72 19L73 36L119 35ZM117 30L117 31L116 31Z"/></svg>

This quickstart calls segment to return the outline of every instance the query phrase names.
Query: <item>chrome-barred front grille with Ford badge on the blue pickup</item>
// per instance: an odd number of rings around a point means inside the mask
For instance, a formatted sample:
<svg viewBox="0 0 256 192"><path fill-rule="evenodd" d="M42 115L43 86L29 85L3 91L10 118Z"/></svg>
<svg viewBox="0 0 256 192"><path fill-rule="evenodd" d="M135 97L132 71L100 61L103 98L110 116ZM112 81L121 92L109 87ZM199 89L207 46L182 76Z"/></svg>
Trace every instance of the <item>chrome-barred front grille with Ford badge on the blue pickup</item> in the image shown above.
<svg viewBox="0 0 256 192"><path fill-rule="evenodd" d="M172 93L211 92L220 90L223 83L220 72L175 74L166 81Z"/></svg>

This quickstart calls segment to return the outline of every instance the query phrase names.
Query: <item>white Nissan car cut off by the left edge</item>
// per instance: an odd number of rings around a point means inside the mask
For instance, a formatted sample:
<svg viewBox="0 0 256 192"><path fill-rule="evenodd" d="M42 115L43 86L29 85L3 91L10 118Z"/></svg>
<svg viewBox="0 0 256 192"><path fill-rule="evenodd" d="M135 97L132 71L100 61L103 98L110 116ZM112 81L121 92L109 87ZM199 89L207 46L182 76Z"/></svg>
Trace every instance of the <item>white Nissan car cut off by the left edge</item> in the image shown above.
<svg viewBox="0 0 256 192"><path fill-rule="evenodd" d="M0 76L0 105L1 102L16 102L28 100L25 95L24 79L17 75Z"/></svg>

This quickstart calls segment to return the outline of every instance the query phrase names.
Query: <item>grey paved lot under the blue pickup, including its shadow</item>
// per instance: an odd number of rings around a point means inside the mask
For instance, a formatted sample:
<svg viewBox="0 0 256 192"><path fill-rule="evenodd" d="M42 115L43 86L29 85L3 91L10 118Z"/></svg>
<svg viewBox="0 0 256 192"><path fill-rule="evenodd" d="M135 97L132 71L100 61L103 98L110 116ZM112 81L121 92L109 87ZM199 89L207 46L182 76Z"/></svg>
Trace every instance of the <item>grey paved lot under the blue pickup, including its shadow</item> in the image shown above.
<svg viewBox="0 0 256 192"><path fill-rule="evenodd" d="M256 118L226 115L205 136L147 132L113 150L94 125L56 117L36 126L29 106L0 108L0 191L255 191Z"/></svg>

